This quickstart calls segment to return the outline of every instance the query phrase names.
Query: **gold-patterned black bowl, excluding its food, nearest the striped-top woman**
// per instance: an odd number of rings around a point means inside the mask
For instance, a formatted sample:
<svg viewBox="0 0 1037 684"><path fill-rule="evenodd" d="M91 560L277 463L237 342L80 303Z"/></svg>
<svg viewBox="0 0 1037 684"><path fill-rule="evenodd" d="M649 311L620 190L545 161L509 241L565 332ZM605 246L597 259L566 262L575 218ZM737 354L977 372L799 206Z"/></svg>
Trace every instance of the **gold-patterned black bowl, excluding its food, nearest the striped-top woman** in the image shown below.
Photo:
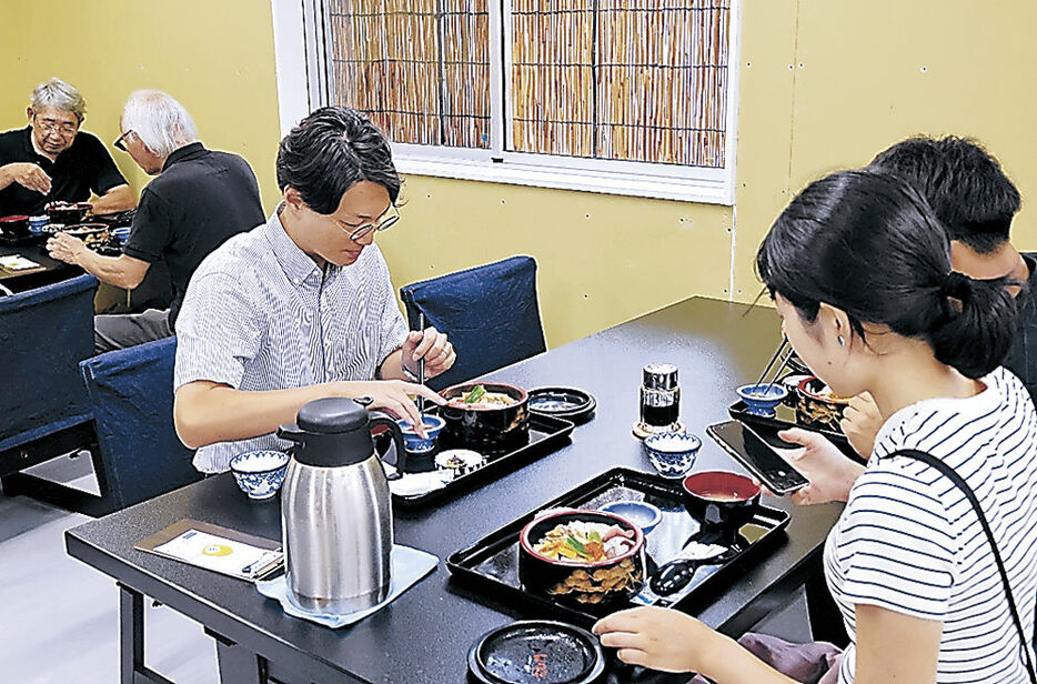
<svg viewBox="0 0 1037 684"><path fill-rule="evenodd" d="M633 533L633 546L614 559L595 563L548 559L535 546L557 525L573 521L616 525ZM525 591L581 608L607 608L626 603L645 580L645 536L621 515L603 511L560 511L534 519L518 536L518 580Z"/></svg>

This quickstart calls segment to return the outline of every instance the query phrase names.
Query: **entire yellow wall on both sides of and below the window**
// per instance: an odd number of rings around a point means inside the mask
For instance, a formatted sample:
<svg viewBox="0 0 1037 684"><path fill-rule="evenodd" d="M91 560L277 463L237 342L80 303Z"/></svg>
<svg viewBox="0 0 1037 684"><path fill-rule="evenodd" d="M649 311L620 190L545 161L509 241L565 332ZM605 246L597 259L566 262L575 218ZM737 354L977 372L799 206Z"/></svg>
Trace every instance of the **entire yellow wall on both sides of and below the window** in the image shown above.
<svg viewBox="0 0 1037 684"><path fill-rule="evenodd" d="M21 125L31 87L60 74L88 99L87 129L110 142L125 95L159 88L210 147L252 163L274 204L266 0L0 7L0 128ZM533 254L557 345L689 294L752 299L753 254L791 194L915 132L979 138L1025 200L1037 182L1035 20L1030 2L744 0L735 210L411 177L405 222L379 239L393 280ZM147 178L117 160L139 190ZM1030 215L1017 220L1016 241L1037 248Z"/></svg>

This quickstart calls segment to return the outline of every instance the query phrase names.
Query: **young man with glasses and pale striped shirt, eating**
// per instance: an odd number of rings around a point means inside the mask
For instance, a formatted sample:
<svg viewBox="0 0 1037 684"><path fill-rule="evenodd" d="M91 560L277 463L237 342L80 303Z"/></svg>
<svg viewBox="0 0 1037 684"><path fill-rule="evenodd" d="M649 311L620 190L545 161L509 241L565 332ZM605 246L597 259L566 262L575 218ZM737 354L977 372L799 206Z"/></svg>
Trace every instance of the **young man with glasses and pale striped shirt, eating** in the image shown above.
<svg viewBox="0 0 1037 684"><path fill-rule="evenodd" d="M177 321L173 419L194 466L223 472L323 396L371 396L420 424L413 382L453 365L446 335L407 332L374 234L399 220L389 142L363 114L322 108L281 141L284 200L270 220L210 254Z"/></svg>

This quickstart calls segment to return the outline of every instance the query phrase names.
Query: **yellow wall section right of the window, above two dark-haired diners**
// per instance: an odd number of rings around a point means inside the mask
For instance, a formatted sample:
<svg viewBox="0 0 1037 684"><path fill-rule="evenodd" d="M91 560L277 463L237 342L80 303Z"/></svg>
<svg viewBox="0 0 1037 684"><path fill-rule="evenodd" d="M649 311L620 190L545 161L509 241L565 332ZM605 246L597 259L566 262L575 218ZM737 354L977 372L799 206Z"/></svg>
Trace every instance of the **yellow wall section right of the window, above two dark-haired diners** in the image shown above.
<svg viewBox="0 0 1037 684"><path fill-rule="evenodd" d="M753 256L788 193L916 133L980 140L1023 194L1014 242L1037 249L1037 219L1026 209L1037 188L1037 3L745 6L736 299L758 292Z"/></svg>

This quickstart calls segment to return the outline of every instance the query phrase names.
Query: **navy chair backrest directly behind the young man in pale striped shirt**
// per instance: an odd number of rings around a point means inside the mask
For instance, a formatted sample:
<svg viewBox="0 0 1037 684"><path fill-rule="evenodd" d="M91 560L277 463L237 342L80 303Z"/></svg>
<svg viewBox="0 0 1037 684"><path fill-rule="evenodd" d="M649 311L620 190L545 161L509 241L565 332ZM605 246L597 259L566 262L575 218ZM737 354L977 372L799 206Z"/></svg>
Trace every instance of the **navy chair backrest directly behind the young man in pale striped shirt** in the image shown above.
<svg viewBox="0 0 1037 684"><path fill-rule="evenodd" d="M101 466L117 507L201 479L173 428L177 338L88 359L80 364L93 409Z"/></svg>

